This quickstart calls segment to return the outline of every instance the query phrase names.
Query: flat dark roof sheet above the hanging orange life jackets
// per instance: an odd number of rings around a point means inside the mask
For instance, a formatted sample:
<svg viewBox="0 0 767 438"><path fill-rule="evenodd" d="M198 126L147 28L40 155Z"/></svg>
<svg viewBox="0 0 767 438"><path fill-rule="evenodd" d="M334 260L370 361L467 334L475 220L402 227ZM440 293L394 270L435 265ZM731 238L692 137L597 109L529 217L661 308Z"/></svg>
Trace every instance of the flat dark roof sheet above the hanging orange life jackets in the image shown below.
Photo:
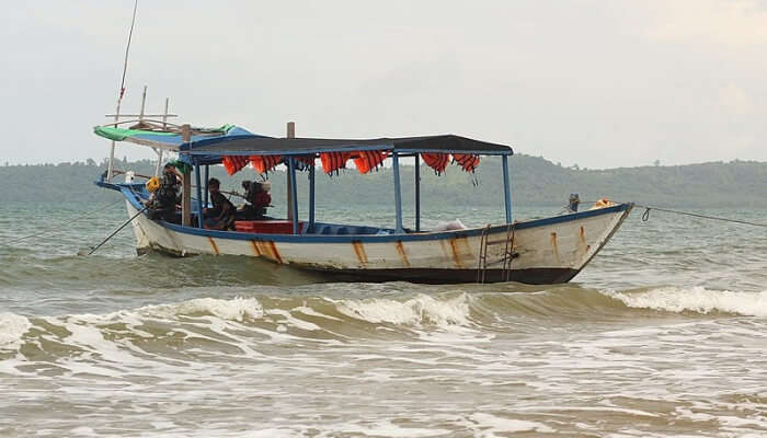
<svg viewBox="0 0 767 438"><path fill-rule="evenodd" d="M454 135L376 138L367 140L330 138L272 138L234 137L217 141L199 141L182 145L182 152L193 155L302 155L318 152L344 152L359 150L391 150L396 152L473 153L511 155L505 145L472 140Z"/></svg>

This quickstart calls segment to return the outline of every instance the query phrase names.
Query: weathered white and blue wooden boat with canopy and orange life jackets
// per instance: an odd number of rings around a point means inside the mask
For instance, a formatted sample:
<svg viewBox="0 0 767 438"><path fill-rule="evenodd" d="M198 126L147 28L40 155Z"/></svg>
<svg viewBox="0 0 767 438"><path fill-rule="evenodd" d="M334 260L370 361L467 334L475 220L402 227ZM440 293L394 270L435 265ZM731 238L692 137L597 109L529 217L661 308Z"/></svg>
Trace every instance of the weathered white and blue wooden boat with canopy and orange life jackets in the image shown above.
<svg viewBox="0 0 767 438"><path fill-rule="evenodd" d="M135 123L135 120L134 120ZM257 257L293 268L323 273L331 280L424 284L501 283L560 284L570 281L607 244L631 211L632 204L604 203L595 208L543 219L512 218L508 159L511 147L456 135L376 139L284 138L255 135L227 125L193 128L141 119L115 122L94 128L98 136L178 153L184 166L183 199L178 223L152 220L146 214L149 192L134 177L114 182L112 165L98 185L121 192L126 199L137 252L156 251L174 256L198 254ZM290 134L290 125L288 125ZM348 160L373 157L369 165L388 161L392 169L394 221L389 228L330 223L314 218L317 161L325 173ZM481 157L501 165L505 223L468 229L424 230L420 217L420 163L438 170L449 159L473 170ZM271 160L265 160L271 158ZM415 160L415 223L402 221L400 165ZM336 169L328 163L335 160ZM249 163L279 162L287 169L288 217L234 222L234 230L203 227L208 206L210 165L226 164L233 171ZM158 164L159 169L159 164ZM263 169L262 169L263 170ZM194 173L194 176L192 175ZM231 173L231 172L230 172ZM308 219L299 220L297 174L307 174ZM193 194L192 180L196 182ZM501 191L499 189L499 193ZM195 195L195 196L193 196ZM501 206L501 199L499 206Z"/></svg>

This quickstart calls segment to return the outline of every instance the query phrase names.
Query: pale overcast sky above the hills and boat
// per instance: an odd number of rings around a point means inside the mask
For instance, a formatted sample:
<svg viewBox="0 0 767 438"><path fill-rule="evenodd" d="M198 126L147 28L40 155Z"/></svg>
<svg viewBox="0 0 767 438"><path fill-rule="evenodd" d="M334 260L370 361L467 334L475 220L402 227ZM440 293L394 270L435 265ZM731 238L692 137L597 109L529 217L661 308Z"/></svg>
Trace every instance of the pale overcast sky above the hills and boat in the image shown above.
<svg viewBox="0 0 767 438"><path fill-rule="evenodd" d="M4 2L4 162L101 161L133 0ZM456 134L562 165L767 161L767 0L138 1L123 112ZM151 158L135 145L116 157Z"/></svg>

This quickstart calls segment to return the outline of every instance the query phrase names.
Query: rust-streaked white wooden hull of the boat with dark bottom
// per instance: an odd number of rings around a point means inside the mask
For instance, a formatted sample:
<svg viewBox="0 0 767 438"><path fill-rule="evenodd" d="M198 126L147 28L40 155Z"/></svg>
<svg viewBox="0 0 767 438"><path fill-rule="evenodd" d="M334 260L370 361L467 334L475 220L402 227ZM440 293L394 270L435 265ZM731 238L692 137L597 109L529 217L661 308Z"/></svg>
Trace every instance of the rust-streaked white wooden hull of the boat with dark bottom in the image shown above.
<svg viewBox="0 0 767 438"><path fill-rule="evenodd" d="M127 197L133 216L140 205ZM323 272L336 280L558 284L577 275L631 207L619 204L513 224L389 235L211 231L152 221L145 215L134 220L133 228L139 252L260 257Z"/></svg>

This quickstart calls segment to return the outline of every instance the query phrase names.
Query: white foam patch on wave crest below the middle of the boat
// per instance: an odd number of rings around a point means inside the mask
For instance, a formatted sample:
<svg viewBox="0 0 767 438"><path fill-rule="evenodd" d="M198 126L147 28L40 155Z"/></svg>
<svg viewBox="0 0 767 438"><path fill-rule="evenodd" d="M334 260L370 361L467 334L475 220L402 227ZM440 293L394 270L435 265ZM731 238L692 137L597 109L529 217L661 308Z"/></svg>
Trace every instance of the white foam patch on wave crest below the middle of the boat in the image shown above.
<svg viewBox="0 0 767 438"><path fill-rule="evenodd" d="M341 300L337 308L347 316L371 323L413 326L427 324L439 328L471 325L469 297L466 293L449 299L419 295L404 302L386 298Z"/></svg>

